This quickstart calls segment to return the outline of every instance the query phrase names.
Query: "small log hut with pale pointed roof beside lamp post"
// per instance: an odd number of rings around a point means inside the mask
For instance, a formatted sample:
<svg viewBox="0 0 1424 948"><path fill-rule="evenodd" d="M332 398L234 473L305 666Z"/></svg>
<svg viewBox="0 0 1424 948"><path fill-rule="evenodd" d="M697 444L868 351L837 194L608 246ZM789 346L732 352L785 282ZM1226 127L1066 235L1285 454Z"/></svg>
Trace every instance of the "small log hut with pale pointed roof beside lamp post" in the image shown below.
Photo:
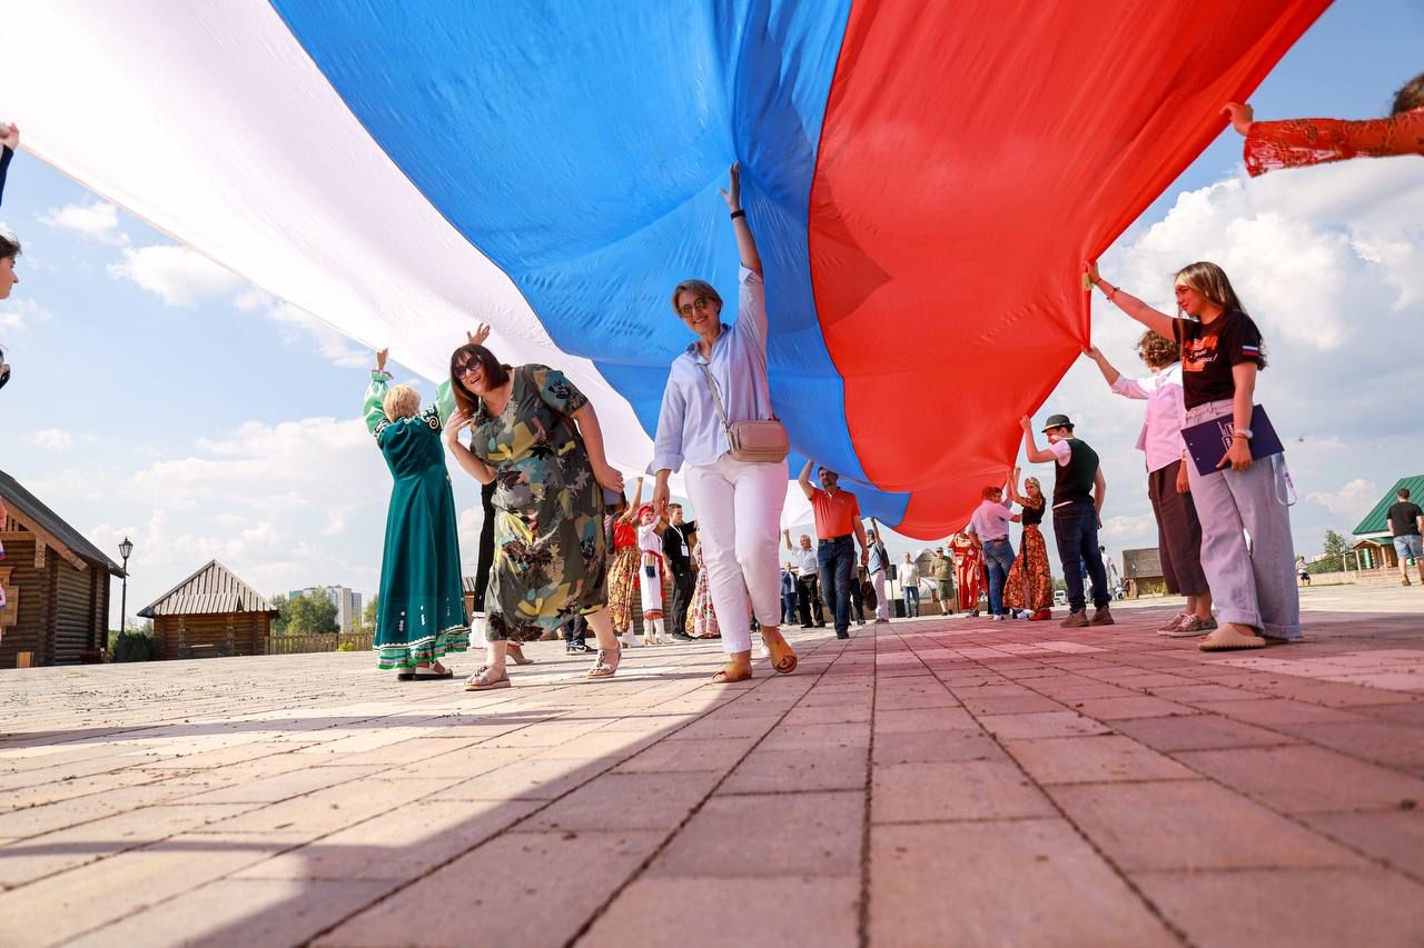
<svg viewBox="0 0 1424 948"><path fill-rule="evenodd" d="M138 615L154 621L165 659L266 655L278 611L216 559Z"/></svg>

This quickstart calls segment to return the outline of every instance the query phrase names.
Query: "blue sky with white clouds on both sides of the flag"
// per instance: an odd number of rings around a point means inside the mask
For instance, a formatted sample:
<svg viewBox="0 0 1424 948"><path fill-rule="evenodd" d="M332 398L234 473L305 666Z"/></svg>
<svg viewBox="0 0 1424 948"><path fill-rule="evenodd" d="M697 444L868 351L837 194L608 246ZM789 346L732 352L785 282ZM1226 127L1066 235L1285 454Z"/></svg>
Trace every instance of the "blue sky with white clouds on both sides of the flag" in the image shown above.
<svg viewBox="0 0 1424 948"><path fill-rule="evenodd" d="M1417 1L1336 3L1252 98L1257 118L1380 115L1424 68L1421 48ZM1326 527L1347 531L1396 477L1424 470L1405 407L1417 399L1398 394L1418 391L1418 373L1390 356L1396 342L1417 347L1424 325L1421 172L1398 158L1249 182L1226 131L1104 256L1109 279L1162 305L1173 266L1212 255L1233 273L1273 344L1262 401L1283 406L1277 427L1296 438L1293 520L1307 554ZM26 248L23 282L0 303L16 373L0 394L0 467L105 549L134 538L131 613L212 557L268 594L375 591L389 475L352 427L366 362L355 344L165 253L164 235L28 155L11 168L0 223ZM1094 322L1132 370L1134 326L1101 302ZM1106 458L1106 542L1155 545L1132 450L1139 406L1087 364L1054 406L1071 407ZM473 558L474 484L457 477L456 495Z"/></svg>

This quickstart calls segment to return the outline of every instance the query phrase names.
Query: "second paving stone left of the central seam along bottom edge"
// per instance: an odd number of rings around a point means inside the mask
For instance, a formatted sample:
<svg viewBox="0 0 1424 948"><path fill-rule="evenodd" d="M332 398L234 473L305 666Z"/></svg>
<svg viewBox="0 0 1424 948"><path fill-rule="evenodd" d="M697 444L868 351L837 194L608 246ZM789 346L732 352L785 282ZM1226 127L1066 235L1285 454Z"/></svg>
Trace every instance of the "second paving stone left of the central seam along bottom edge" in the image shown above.
<svg viewBox="0 0 1424 948"><path fill-rule="evenodd" d="M649 830L506 833L347 918L316 945L560 945L665 837Z"/></svg>

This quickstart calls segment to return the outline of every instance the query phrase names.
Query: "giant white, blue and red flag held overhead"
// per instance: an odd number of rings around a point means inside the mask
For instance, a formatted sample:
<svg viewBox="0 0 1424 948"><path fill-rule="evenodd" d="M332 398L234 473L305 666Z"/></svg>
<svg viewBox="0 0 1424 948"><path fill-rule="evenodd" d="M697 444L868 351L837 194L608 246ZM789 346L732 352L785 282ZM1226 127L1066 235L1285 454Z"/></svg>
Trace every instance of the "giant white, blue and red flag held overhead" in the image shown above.
<svg viewBox="0 0 1424 948"><path fill-rule="evenodd" d="M689 342L671 288L736 299L740 161L796 453L930 538L1088 340L1081 262L1326 6L16 0L0 114L431 379L491 322L591 394L625 470Z"/></svg>

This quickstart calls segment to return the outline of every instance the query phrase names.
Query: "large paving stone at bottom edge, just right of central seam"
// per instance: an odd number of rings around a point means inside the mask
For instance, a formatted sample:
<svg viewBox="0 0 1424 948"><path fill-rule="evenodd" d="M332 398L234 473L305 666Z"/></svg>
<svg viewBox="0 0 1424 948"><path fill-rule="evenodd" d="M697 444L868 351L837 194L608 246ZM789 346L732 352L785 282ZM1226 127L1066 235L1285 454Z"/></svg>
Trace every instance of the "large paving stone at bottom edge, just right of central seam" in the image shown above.
<svg viewBox="0 0 1424 948"><path fill-rule="evenodd" d="M870 865L873 945L1178 944L1058 818L877 826Z"/></svg>

